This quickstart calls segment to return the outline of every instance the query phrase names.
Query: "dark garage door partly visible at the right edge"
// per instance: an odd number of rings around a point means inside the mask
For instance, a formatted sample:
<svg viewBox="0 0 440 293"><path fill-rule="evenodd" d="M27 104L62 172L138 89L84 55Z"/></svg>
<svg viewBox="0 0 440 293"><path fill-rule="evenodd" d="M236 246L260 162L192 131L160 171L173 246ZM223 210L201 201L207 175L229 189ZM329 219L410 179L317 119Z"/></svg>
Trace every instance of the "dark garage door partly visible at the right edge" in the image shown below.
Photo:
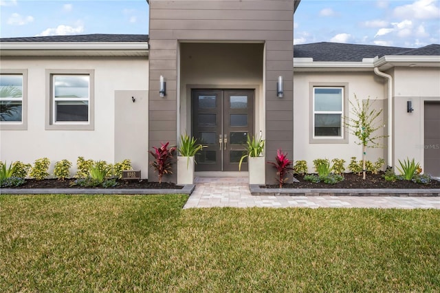
<svg viewBox="0 0 440 293"><path fill-rule="evenodd" d="M440 177L440 102L425 102L424 172Z"/></svg>

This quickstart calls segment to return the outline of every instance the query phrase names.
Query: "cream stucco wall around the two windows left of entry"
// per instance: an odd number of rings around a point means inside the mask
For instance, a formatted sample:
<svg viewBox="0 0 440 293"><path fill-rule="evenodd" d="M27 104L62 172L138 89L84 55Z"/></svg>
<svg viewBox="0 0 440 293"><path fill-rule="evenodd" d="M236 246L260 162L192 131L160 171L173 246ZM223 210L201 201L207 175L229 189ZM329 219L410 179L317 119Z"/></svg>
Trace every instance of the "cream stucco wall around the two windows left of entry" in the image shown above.
<svg viewBox="0 0 440 293"><path fill-rule="evenodd" d="M147 90L147 58L2 58L1 69L28 69L28 129L0 131L0 160L33 163L38 158L54 163L67 159L76 166L78 156L92 160L115 158L115 91ZM94 69L94 130L45 130L46 69ZM147 115L145 109L145 116ZM148 135L137 133L133 135ZM146 151L146 150L145 150ZM74 172L76 168L72 169Z"/></svg>

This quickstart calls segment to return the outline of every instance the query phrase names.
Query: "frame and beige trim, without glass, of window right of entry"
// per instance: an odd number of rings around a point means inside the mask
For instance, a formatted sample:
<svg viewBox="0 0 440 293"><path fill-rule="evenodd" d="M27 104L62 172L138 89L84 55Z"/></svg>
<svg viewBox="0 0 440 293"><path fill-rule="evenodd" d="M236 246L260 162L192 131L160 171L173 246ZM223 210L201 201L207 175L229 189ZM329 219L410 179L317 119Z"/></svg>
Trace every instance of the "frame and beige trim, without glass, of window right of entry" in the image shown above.
<svg viewBox="0 0 440 293"><path fill-rule="evenodd" d="M310 83L310 132L309 143L311 144L347 144L349 143L349 135L347 128L344 127L344 117L348 116L348 83ZM341 111L315 111L315 89L342 89L341 95ZM315 135L315 114L339 114L340 120L340 136Z"/></svg>

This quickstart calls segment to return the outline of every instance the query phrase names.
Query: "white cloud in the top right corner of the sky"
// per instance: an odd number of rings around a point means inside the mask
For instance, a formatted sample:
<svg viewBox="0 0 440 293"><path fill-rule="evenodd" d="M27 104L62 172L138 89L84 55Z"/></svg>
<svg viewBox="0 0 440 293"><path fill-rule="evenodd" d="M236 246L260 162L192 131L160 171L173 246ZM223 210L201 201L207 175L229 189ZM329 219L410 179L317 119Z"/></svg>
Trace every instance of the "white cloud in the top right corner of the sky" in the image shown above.
<svg viewBox="0 0 440 293"><path fill-rule="evenodd" d="M436 6L435 0L418 0L412 4L397 6L393 14L395 17L414 18L414 19L438 19L440 8Z"/></svg>

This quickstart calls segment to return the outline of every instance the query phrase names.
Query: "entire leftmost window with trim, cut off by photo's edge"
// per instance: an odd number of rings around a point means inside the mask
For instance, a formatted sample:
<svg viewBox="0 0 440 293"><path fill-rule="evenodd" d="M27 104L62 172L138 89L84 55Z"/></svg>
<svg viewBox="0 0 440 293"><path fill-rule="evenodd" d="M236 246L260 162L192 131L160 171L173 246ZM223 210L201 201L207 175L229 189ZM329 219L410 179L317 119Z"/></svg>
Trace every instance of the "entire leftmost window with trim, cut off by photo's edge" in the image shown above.
<svg viewBox="0 0 440 293"><path fill-rule="evenodd" d="M25 70L2 70L0 74L0 125L2 130L26 129Z"/></svg>

